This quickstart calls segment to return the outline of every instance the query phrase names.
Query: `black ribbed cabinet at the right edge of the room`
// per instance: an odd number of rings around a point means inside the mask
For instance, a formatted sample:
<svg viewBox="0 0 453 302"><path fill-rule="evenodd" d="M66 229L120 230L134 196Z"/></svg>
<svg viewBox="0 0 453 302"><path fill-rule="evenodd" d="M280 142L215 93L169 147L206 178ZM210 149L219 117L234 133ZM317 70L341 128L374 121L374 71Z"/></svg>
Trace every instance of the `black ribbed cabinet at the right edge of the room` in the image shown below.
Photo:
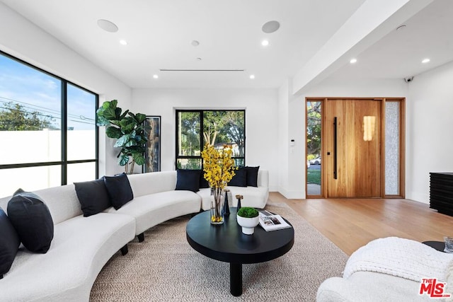
<svg viewBox="0 0 453 302"><path fill-rule="evenodd" d="M430 173L430 208L453 216L453 173Z"/></svg>

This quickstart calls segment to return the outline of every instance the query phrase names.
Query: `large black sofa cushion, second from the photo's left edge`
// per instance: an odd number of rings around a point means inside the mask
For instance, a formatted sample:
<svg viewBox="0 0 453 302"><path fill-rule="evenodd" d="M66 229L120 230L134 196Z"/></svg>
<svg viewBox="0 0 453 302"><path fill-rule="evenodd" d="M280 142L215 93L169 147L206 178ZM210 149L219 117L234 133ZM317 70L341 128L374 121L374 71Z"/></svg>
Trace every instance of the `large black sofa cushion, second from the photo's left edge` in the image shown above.
<svg viewBox="0 0 453 302"><path fill-rule="evenodd" d="M19 189L8 202L8 217L30 252L45 254L54 238L50 211L38 195Z"/></svg>

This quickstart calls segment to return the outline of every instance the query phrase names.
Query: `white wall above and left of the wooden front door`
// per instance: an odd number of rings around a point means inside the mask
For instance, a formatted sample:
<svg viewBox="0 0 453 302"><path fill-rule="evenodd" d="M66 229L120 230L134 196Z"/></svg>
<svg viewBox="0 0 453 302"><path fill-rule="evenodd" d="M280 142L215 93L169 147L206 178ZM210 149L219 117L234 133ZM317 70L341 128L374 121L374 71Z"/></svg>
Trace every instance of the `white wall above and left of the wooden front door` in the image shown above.
<svg viewBox="0 0 453 302"><path fill-rule="evenodd" d="M301 146L289 153L286 190L292 192L290 198L305 198L305 118L306 97L407 97L408 84L403 79L362 79L343 80L326 79L318 85L304 91L289 102L289 139L302 141ZM406 148L406 150L408 150ZM295 197L297 196L297 197Z"/></svg>

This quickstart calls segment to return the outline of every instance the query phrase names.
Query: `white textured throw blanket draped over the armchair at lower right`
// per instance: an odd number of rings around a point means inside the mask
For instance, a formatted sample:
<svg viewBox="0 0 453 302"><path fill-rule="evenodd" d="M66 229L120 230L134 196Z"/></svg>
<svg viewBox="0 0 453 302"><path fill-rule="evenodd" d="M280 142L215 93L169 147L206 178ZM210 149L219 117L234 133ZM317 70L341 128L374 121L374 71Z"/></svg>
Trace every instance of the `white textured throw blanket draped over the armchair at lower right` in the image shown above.
<svg viewBox="0 0 453 302"><path fill-rule="evenodd" d="M453 254L439 252L418 241L388 237L372 240L352 253L343 277L355 272L379 272L417 282L422 278L445 282L452 281L452 268Z"/></svg>

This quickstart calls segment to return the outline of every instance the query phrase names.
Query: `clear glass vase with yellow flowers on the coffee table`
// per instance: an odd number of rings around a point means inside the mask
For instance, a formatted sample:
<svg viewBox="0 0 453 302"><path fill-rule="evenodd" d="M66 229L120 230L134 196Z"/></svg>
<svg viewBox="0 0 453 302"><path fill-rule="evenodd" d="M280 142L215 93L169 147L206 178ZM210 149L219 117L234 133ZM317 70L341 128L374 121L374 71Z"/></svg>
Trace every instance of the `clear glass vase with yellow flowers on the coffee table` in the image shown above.
<svg viewBox="0 0 453 302"><path fill-rule="evenodd" d="M211 187L211 223L222 224L222 192L226 184L233 178L234 159L231 158L233 150L231 146L224 145L222 148L215 149L211 144L205 144L201 156L203 158L203 171L205 180Z"/></svg>

